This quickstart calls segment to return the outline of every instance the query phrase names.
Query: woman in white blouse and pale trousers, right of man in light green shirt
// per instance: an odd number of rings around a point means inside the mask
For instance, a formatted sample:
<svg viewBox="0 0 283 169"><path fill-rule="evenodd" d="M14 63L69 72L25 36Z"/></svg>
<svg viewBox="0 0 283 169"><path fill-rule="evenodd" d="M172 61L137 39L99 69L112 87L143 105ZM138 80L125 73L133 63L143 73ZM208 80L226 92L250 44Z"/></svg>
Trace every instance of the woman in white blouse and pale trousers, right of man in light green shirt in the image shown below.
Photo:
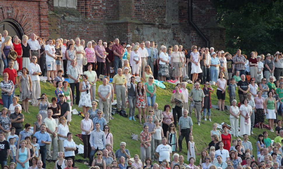
<svg viewBox="0 0 283 169"><path fill-rule="evenodd" d="M66 118L60 117L58 125L58 140L59 140L59 150L60 152L64 151L64 140L67 139L67 133L69 133L69 127L66 125Z"/></svg>

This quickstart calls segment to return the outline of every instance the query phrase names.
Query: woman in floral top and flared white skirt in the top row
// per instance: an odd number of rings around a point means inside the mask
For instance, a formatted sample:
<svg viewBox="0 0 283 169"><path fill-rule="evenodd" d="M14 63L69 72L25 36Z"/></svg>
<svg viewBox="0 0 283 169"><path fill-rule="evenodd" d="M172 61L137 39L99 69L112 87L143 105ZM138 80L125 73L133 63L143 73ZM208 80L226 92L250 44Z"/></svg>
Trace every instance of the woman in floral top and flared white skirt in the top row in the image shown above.
<svg viewBox="0 0 283 169"><path fill-rule="evenodd" d="M197 51L197 46L193 45L191 48L191 58L190 61L192 63L191 74L193 74L193 83L198 79L198 73L202 73L200 68L200 53Z"/></svg>

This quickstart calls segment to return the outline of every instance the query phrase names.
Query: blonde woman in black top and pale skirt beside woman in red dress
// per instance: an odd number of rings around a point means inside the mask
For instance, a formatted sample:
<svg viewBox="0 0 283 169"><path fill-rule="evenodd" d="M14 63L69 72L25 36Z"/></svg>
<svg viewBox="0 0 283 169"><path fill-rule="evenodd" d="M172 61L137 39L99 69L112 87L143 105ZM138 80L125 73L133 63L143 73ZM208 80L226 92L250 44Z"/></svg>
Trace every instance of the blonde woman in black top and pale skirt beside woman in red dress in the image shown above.
<svg viewBox="0 0 283 169"><path fill-rule="evenodd" d="M27 43L28 36L22 36L22 67L27 68L30 64L30 59L32 59L32 53L30 50L30 46ZM5 62L4 62L5 63Z"/></svg>

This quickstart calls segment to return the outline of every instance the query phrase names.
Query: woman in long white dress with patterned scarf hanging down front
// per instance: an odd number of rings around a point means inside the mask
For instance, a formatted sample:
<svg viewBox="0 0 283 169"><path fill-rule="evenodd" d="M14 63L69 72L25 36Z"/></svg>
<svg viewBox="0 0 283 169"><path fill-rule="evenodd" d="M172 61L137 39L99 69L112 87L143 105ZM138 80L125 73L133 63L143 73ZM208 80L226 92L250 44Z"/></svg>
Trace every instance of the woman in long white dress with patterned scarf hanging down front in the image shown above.
<svg viewBox="0 0 283 169"><path fill-rule="evenodd" d="M248 99L245 98L240 106L240 135L251 135L251 106L248 105Z"/></svg>

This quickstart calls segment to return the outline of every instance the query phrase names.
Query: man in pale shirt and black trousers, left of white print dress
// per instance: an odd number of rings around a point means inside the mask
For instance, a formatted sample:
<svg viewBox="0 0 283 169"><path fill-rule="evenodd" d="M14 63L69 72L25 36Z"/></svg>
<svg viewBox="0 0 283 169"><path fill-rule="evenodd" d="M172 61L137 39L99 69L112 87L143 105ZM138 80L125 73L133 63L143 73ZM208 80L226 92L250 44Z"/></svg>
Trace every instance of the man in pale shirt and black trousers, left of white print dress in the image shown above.
<svg viewBox="0 0 283 169"><path fill-rule="evenodd" d="M67 75L70 78L70 88L72 91L72 97L73 97L73 104L74 104L74 100L75 100L75 87L76 87L76 104L78 105L80 102L80 91L79 91L79 87L80 87L80 70L78 69L78 67L76 66L76 61L72 60L71 61L71 66L69 66L68 70L67 70Z"/></svg>

